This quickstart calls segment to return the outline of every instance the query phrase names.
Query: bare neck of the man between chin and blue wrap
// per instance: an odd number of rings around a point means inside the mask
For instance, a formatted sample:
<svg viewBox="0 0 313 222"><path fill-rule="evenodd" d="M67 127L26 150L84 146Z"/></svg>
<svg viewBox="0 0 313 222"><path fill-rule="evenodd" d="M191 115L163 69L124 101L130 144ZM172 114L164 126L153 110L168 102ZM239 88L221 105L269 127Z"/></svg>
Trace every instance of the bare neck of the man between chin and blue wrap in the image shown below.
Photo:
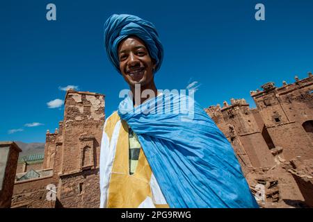
<svg viewBox="0 0 313 222"><path fill-rule="evenodd" d="M136 85L130 87L133 97L134 107L141 105L147 99L152 99L158 94L158 89L153 83L152 85Z"/></svg>

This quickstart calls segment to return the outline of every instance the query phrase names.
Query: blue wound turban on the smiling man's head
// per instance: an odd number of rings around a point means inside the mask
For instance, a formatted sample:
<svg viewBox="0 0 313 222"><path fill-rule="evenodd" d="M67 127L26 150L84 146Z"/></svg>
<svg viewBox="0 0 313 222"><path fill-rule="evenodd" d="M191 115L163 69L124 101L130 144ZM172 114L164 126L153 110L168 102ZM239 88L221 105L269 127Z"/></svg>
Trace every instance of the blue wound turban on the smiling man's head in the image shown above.
<svg viewBox="0 0 313 222"><path fill-rule="evenodd" d="M140 17L134 15L111 15L104 24L104 41L106 53L115 69L120 72L120 60L118 58L118 44L129 35L136 35L145 42L150 57L156 62L156 73L163 60L163 46L155 26Z"/></svg>

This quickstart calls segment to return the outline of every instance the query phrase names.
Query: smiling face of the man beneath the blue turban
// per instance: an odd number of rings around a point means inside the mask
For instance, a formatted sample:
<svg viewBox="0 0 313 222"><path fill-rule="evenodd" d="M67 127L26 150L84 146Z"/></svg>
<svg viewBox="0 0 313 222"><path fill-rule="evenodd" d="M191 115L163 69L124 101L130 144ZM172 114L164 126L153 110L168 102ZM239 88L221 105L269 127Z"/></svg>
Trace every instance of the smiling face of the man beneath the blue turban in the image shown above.
<svg viewBox="0 0 313 222"><path fill-rule="evenodd" d="M145 43L138 37L127 37L118 46L120 71L130 86L141 84L149 86L154 83L154 61L149 55Z"/></svg>

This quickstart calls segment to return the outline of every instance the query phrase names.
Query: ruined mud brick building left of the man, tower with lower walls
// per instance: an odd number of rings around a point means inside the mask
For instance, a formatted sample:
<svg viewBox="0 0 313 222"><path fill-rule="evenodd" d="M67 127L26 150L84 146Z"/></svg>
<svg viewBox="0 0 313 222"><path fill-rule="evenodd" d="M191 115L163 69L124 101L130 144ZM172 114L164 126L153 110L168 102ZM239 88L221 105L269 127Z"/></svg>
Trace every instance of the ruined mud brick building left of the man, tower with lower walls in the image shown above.
<svg viewBox="0 0 313 222"><path fill-rule="evenodd" d="M54 133L46 133L42 169L15 182L12 207L99 207L104 95L68 90L58 125ZM51 186L56 200L47 200Z"/></svg>

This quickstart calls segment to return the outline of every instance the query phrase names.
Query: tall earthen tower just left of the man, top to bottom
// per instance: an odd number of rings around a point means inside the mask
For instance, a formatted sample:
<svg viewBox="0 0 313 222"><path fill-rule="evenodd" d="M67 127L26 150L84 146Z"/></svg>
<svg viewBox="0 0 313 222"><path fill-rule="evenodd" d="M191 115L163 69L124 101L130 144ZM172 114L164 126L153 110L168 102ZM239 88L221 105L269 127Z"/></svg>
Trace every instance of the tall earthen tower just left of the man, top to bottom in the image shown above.
<svg viewBox="0 0 313 222"><path fill-rule="evenodd" d="M99 207L104 96L67 92L62 144L56 153L58 207Z"/></svg>

